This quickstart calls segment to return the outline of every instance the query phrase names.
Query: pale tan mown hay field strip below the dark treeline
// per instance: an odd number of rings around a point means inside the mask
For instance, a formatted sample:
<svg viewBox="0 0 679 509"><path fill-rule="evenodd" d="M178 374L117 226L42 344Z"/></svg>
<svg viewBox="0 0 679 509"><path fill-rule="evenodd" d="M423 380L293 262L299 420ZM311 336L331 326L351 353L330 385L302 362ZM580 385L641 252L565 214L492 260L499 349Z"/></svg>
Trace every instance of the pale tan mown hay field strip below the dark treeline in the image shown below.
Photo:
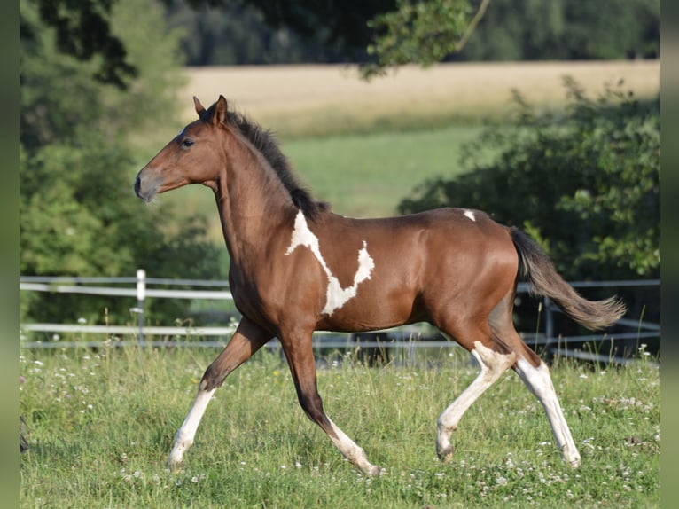
<svg viewBox="0 0 679 509"><path fill-rule="evenodd" d="M503 118L511 90L558 107L565 76L592 93L620 81L639 97L660 90L659 60L409 66L371 82L351 66L190 67L186 76L184 120L195 118L191 96L207 106L222 94L284 138Z"/></svg>

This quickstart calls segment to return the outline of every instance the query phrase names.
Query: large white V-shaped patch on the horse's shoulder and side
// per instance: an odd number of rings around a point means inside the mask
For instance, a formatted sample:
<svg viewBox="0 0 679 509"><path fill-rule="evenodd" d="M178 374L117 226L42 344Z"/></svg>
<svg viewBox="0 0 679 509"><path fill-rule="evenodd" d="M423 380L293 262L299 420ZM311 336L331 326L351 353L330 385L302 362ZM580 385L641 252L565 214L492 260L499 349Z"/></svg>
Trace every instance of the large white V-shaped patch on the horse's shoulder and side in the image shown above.
<svg viewBox="0 0 679 509"><path fill-rule="evenodd" d="M299 247L308 247L311 253L316 256L316 260L321 264L325 274L328 277L328 288L325 294L325 306L322 313L332 315L335 309L339 309L347 301L350 301L356 296L358 286L366 279L371 278L372 270L375 268L375 262L371 255L368 254L368 244L363 240L363 247L358 251L358 270L354 275L354 284L342 288L339 284L339 279L332 275L327 263L321 255L321 248L318 244L318 238L314 232L309 230L308 223L304 214L300 211L294 221L294 230L292 239L290 239L290 247L285 251L285 255L290 255Z"/></svg>

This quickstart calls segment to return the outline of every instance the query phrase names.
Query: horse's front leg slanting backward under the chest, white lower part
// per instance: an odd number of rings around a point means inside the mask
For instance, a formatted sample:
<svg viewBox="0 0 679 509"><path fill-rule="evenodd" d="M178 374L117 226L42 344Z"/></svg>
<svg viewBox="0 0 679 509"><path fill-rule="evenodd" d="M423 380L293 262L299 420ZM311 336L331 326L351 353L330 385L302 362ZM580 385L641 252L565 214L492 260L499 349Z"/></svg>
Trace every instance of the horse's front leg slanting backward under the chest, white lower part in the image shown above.
<svg viewBox="0 0 679 509"><path fill-rule="evenodd" d="M316 384L316 362L311 347L311 333L300 334L296 337L286 334L282 336L281 344L290 365L290 371L293 373L294 385L302 410L309 419L324 430L342 455L364 474L381 474L382 470L379 466L372 465L368 461L365 451L325 415Z"/></svg>

